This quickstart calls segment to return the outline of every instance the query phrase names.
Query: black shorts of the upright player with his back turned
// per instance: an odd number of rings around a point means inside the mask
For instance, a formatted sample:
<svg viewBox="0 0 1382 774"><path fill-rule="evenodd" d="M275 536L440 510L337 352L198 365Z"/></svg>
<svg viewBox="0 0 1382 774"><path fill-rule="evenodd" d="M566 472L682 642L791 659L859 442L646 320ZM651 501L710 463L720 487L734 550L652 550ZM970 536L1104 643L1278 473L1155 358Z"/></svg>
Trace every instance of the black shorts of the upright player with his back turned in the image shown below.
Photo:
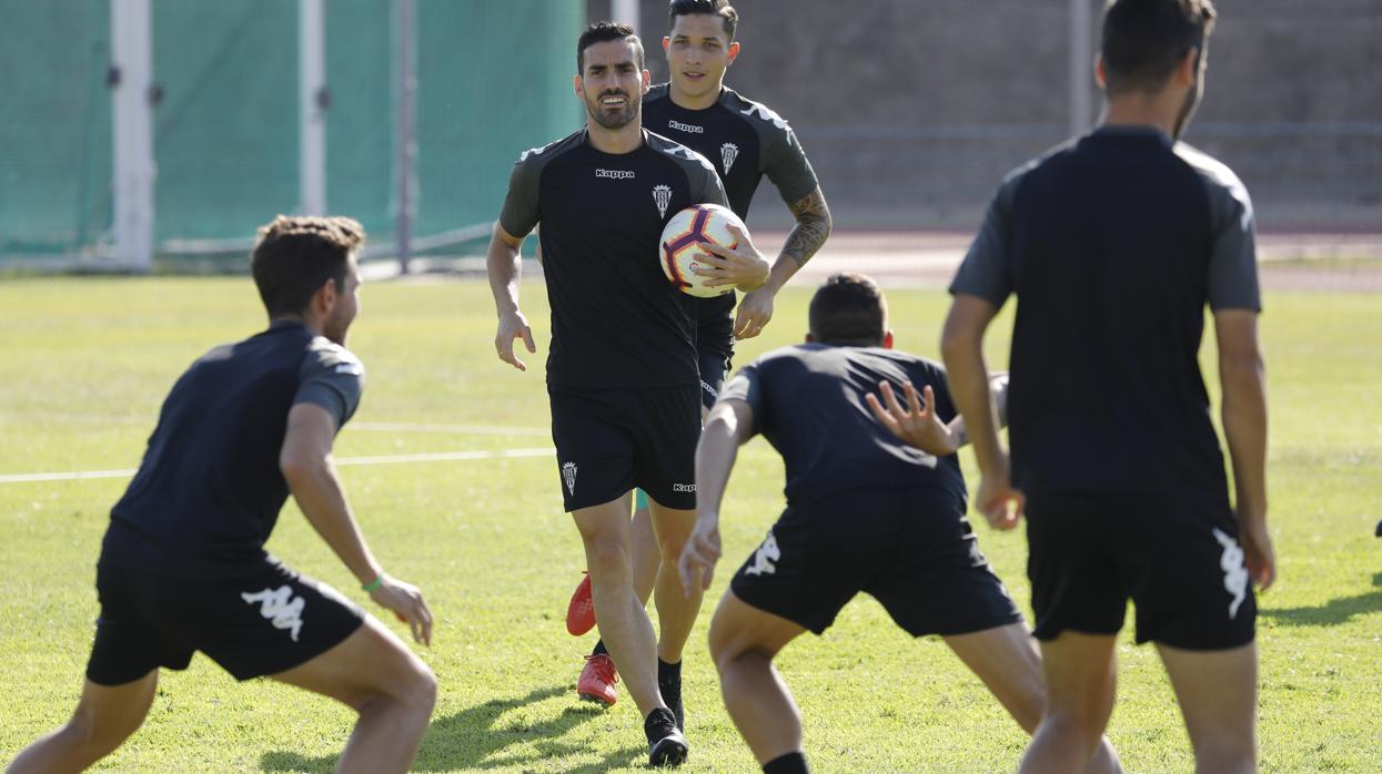
<svg viewBox="0 0 1382 774"><path fill-rule="evenodd" d="M1113 635L1132 599L1139 643L1252 642L1258 606L1227 501L1032 494L1027 542L1039 639Z"/></svg>

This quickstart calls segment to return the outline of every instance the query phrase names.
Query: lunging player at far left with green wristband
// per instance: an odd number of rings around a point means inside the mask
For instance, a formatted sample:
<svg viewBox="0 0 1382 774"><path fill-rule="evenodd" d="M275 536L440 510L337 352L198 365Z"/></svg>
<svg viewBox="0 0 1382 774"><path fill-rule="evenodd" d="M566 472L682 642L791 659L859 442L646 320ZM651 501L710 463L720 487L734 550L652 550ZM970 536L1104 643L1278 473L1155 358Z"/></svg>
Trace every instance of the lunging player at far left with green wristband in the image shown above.
<svg viewBox="0 0 1382 774"><path fill-rule="evenodd" d="M177 381L97 564L101 617L66 726L10 771L76 771L144 723L159 668L206 653L238 680L336 698L359 720L340 771L406 771L437 698L431 671L333 589L264 552L289 493L370 597L431 642L419 591L384 574L355 524L332 443L365 370L346 349L358 308L348 218L260 229L252 269L269 328L202 356Z"/></svg>

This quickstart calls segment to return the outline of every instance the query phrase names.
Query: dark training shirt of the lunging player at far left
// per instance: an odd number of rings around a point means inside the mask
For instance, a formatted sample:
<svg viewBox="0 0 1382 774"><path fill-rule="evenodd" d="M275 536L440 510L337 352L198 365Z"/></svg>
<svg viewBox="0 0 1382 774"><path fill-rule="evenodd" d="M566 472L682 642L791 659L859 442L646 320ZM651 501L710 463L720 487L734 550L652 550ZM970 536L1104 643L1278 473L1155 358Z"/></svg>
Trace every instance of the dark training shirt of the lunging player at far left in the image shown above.
<svg viewBox="0 0 1382 774"><path fill-rule="evenodd" d="M289 494L278 466L289 408L318 404L339 429L363 381L354 355L299 321L203 355L163 401L111 510L101 562L156 570L263 557Z"/></svg>

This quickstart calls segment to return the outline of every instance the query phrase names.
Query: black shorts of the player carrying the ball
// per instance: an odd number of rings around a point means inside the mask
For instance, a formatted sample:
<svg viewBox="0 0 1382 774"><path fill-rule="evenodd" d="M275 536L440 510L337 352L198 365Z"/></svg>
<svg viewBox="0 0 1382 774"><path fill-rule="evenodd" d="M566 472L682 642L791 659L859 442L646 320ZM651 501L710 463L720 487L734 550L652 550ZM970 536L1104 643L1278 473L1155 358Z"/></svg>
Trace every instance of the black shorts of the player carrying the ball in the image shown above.
<svg viewBox="0 0 1382 774"><path fill-rule="evenodd" d="M583 389L547 385L551 440L568 512L638 487L668 508L695 508L697 385Z"/></svg>

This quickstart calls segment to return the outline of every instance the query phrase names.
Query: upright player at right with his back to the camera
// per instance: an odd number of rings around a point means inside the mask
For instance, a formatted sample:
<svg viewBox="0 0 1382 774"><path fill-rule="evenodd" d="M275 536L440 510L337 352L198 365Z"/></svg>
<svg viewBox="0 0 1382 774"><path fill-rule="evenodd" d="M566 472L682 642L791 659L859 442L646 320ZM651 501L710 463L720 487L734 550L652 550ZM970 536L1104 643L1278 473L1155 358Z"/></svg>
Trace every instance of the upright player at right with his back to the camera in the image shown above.
<svg viewBox="0 0 1382 774"><path fill-rule="evenodd" d="M983 472L976 505L1010 528L1025 497L1049 711L1024 771L1095 751L1128 597L1197 770L1256 764L1252 582L1271 582L1274 557L1252 204L1231 170L1177 142L1213 21L1208 0L1106 8L1103 126L1003 181L951 286L941 345ZM981 345L1012 294L1009 475ZM1236 506L1197 360L1205 304Z"/></svg>

